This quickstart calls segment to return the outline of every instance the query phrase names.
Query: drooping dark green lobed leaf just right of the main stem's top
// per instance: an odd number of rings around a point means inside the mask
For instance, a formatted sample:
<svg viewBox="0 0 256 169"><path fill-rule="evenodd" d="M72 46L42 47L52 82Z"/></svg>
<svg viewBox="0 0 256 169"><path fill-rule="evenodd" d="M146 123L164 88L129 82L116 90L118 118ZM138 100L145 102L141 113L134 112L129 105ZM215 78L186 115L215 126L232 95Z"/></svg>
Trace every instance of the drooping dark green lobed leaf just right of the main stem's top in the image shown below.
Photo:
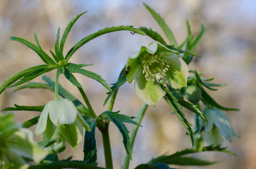
<svg viewBox="0 0 256 169"><path fill-rule="evenodd" d="M130 159L132 159L132 147L130 143L129 131L124 123L132 123L134 125L139 125L139 124L131 120L134 117L118 114L119 112L120 111L117 111L117 112L105 111L101 115L99 115L97 118L109 120L118 127L119 131L123 136L123 143L124 143L125 150L128 156L130 157Z"/></svg>

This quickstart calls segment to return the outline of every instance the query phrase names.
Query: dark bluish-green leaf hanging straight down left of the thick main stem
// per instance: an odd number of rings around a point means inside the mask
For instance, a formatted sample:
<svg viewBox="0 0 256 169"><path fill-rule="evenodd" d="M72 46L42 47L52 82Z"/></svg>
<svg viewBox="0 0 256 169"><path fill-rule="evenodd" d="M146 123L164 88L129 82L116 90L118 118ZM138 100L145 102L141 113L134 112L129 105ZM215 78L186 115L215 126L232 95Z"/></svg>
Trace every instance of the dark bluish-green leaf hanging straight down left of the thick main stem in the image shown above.
<svg viewBox="0 0 256 169"><path fill-rule="evenodd" d="M95 128L96 121L93 118L87 118L86 121L89 123L92 131L85 131L84 135L84 161L96 162L97 161L97 149L95 139Z"/></svg>

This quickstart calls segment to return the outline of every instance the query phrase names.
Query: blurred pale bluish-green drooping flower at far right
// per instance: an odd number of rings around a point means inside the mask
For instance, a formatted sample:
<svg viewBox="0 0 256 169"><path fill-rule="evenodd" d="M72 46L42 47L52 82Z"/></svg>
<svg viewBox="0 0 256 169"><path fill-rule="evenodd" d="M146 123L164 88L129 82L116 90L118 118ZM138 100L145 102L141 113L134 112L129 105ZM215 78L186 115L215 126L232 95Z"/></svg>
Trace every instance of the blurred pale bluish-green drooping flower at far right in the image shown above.
<svg viewBox="0 0 256 169"><path fill-rule="evenodd" d="M224 138L231 142L233 136L237 136L230 120L220 109L206 108L202 113L208 120L207 125L200 119L200 126L204 129L202 131L202 137L209 145L221 145Z"/></svg>

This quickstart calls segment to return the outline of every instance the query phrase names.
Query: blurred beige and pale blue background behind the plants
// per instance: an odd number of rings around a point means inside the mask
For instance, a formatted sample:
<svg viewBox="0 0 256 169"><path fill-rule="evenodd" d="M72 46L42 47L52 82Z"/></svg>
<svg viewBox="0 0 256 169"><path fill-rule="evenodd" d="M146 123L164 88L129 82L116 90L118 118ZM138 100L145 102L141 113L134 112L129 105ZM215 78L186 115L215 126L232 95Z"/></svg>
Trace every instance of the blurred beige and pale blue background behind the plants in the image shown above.
<svg viewBox="0 0 256 169"><path fill-rule="evenodd" d="M48 51L54 49L56 32L61 33L72 18L84 11L72 28L64 47L66 53L81 38L104 27L119 25L146 26L164 34L150 13L144 8L142 0L0 0L0 83L16 72L34 65L42 64L40 58L28 47L14 41L10 36L26 38L32 42L36 31L40 44ZM198 157L220 163L201 167L204 169L255 169L256 168L256 1L255 0L144 0L159 12L176 39L181 44L186 36L185 21L191 23L192 33L197 35L200 23L206 28L206 34L199 43L196 52L200 59L194 59L190 69L204 73L204 77L215 77L216 83L228 83L217 92L208 91L214 99L227 107L240 108L239 112L226 112L233 128L240 135L232 143L224 142L229 150L238 156L223 153L203 153ZM107 80L116 81L119 72L126 63L128 55L147 45L151 38L132 35L129 31L120 31L100 36L80 48L70 61L74 63L94 63L87 67ZM47 52L49 54L49 52ZM55 71L47 73L55 77ZM96 81L75 75L83 84L96 114L103 107L106 89ZM41 77L33 80L42 82ZM77 88L63 76L60 83L76 97L81 99ZM43 105L54 98L52 92L43 89L25 89L12 92L8 89L0 95L0 109L18 105ZM81 99L82 100L82 99ZM133 84L121 86L114 110L122 114L136 116L143 102L135 94ZM164 153L174 153L191 147L184 127L172 110L162 99L155 108L150 107L142 122L136 138L133 160L130 167L149 161L152 157ZM37 112L15 112L17 122L38 115ZM193 123L191 112L185 113ZM129 130L132 126L128 124ZM35 129L35 126L31 128ZM115 168L120 168L124 158L122 137L118 129L110 125L112 154ZM96 131L99 166L104 167L102 138ZM40 140L40 137L36 137ZM73 155L82 159L83 143L73 150L70 146L60 155L60 159ZM195 169L197 167L181 167Z"/></svg>

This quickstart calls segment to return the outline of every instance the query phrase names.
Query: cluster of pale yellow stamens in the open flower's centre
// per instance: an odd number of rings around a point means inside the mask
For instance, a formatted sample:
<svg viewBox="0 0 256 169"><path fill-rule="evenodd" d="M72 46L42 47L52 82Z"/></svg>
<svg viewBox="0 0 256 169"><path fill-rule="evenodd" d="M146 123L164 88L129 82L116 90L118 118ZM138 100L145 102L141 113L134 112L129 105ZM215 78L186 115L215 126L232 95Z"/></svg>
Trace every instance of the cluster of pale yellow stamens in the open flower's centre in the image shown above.
<svg viewBox="0 0 256 169"><path fill-rule="evenodd" d="M162 54L161 54L162 55ZM158 55L149 54L144 57L142 61L143 74L145 74L146 81L155 81L162 79L166 76L166 71L168 71L169 65L168 61L161 59Z"/></svg>

